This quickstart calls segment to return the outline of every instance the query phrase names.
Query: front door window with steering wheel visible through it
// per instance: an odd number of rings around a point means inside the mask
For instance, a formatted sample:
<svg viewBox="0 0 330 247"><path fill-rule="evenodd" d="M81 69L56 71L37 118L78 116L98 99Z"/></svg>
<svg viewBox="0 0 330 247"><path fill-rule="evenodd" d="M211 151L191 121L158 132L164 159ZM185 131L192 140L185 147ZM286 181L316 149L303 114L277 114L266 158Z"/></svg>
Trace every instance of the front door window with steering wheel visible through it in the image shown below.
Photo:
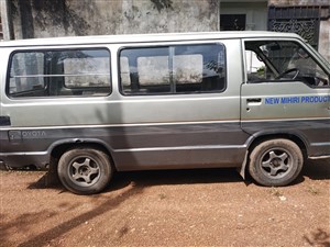
<svg viewBox="0 0 330 247"><path fill-rule="evenodd" d="M329 86L324 70L296 42L245 42L245 59L249 82L295 80L311 87Z"/></svg>

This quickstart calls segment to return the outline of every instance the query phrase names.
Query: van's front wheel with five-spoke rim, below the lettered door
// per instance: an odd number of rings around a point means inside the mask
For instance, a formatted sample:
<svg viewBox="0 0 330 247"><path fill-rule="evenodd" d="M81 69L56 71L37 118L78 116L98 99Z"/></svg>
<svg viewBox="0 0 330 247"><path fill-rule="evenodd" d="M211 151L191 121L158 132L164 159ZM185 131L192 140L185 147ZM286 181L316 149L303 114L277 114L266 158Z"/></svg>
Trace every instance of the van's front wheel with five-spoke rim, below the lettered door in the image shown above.
<svg viewBox="0 0 330 247"><path fill-rule="evenodd" d="M261 186L282 187L293 182L301 171L304 157L289 139L270 139L250 155L249 172Z"/></svg>

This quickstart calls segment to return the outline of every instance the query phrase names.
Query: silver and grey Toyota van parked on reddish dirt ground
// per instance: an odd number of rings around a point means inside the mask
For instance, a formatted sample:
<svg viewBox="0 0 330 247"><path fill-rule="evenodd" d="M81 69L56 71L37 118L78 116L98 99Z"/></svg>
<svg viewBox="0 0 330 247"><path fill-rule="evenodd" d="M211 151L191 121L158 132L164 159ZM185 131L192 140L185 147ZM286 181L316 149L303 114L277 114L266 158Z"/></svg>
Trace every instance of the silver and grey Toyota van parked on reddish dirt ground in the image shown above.
<svg viewBox="0 0 330 247"><path fill-rule="evenodd" d="M114 171L237 167L286 186L330 157L330 66L296 34L85 36L0 44L0 164ZM54 168L54 167L53 167Z"/></svg>

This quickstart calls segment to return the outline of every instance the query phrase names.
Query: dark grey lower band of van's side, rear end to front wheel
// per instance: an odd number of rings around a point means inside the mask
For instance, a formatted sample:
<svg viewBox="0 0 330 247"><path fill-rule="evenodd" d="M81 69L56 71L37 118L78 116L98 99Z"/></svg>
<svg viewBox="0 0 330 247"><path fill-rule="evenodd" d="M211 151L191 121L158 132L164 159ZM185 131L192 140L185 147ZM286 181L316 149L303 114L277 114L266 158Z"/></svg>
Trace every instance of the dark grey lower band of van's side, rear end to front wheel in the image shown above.
<svg viewBox="0 0 330 247"><path fill-rule="evenodd" d="M55 145L75 142L106 146L118 170L237 167L246 148L238 122L18 130L1 131L1 156L11 167L43 167Z"/></svg>

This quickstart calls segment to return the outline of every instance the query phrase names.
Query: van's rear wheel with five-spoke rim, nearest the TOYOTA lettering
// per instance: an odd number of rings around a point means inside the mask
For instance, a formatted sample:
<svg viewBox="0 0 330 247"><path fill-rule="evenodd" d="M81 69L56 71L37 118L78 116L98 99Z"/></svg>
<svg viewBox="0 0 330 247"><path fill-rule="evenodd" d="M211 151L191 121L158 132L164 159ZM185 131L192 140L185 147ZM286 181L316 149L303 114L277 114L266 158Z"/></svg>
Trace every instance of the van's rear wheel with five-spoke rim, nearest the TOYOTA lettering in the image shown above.
<svg viewBox="0 0 330 247"><path fill-rule="evenodd" d="M110 182L113 169L109 156L94 148L74 148L62 155L57 167L63 186L76 194L95 194Z"/></svg>

